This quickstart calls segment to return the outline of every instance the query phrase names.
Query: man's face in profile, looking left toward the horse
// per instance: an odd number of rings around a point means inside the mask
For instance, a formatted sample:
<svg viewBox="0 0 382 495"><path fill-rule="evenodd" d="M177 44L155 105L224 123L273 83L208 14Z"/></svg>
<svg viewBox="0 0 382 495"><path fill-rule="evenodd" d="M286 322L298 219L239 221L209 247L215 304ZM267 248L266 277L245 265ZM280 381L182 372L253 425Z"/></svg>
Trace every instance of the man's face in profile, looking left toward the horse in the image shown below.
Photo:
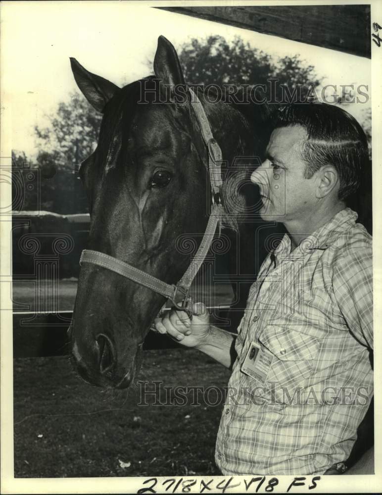
<svg viewBox="0 0 382 495"><path fill-rule="evenodd" d="M275 129L266 159L251 175L260 188L260 215L266 221L288 222L309 218L317 204L316 180L304 178L306 162L300 150L307 140L301 125Z"/></svg>

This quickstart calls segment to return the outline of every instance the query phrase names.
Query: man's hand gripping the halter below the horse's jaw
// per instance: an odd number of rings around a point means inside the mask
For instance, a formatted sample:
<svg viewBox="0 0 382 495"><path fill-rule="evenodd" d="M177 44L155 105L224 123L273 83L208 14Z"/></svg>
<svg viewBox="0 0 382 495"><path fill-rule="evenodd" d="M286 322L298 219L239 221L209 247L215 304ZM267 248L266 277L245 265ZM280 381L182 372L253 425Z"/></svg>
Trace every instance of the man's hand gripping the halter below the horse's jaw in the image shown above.
<svg viewBox="0 0 382 495"><path fill-rule="evenodd" d="M161 334L168 334L183 346L201 346L210 331L209 314L202 302L195 303L192 309L191 320L186 312L173 309L163 318L155 319L155 329Z"/></svg>

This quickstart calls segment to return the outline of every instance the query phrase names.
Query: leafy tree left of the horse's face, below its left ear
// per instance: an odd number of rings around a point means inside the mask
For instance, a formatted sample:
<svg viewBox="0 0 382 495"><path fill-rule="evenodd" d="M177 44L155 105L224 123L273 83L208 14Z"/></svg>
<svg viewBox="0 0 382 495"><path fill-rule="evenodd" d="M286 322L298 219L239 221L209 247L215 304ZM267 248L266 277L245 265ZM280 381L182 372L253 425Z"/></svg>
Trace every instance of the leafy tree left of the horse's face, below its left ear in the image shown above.
<svg viewBox="0 0 382 495"><path fill-rule="evenodd" d="M48 118L48 127L35 127L39 152L32 168L38 171L36 184L24 190L18 209L87 212L86 194L76 171L96 148L102 115L80 93L71 93L69 100L61 101ZM22 167L24 161L24 153L12 153L14 190L17 180L26 183L28 171Z"/></svg>

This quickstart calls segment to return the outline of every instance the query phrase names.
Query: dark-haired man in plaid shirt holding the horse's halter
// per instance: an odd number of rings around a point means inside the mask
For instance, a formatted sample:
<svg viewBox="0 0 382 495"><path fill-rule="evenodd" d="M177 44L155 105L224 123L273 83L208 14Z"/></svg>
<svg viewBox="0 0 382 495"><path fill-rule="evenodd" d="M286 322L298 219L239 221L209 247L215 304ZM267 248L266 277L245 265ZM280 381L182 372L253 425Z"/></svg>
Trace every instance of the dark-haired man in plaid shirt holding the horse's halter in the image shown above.
<svg viewBox="0 0 382 495"><path fill-rule="evenodd" d="M373 395L372 239L345 207L366 166L365 134L347 112L285 107L251 180L262 218L287 234L260 268L238 336L205 312L156 322L232 367L216 443L223 474L323 474L349 456Z"/></svg>

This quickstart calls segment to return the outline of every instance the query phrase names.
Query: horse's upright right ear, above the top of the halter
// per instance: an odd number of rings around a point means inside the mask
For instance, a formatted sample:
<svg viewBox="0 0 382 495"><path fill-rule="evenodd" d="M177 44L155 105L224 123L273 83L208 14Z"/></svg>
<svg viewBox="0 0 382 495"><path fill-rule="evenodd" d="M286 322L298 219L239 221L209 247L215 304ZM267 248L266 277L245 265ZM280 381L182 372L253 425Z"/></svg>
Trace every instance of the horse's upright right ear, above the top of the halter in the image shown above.
<svg viewBox="0 0 382 495"><path fill-rule="evenodd" d="M185 84L181 64L175 48L164 37L159 36L154 58L154 73L162 83L169 86Z"/></svg>

